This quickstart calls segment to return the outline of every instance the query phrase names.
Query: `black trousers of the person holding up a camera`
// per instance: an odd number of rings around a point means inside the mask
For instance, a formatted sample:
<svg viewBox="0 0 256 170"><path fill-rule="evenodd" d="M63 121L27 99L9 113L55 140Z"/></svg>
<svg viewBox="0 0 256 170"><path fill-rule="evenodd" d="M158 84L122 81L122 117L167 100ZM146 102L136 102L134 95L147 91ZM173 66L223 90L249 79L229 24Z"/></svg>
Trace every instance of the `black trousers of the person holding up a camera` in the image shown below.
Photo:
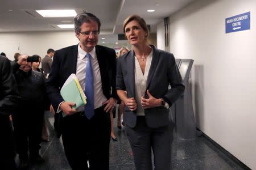
<svg viewBox="0 0 256 170"><path fill-rule="evenodd" d="M43 109L29 108L13 114L14 136L19 158L38 155L43 128ZM28 148L29 146L29 148Z"/></svg>

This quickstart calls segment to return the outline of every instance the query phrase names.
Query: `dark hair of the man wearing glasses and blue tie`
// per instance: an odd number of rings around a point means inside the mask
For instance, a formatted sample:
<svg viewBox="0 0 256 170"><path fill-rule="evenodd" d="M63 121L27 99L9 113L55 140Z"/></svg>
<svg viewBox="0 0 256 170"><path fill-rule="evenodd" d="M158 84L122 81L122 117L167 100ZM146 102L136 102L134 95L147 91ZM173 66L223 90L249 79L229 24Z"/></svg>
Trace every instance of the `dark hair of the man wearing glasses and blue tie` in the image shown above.
<svg viewBox="0 0 256 170"><path fill-rule="evenodd" d="M75 22L75 32L79 33L81 31L80 27L82 23L90 23L91 21L95 21L98 24L98 32L101 29L101 21L97 18L97 16L93 15L92 13L83 11L81 14L77 14L74 18Z"/></svg>

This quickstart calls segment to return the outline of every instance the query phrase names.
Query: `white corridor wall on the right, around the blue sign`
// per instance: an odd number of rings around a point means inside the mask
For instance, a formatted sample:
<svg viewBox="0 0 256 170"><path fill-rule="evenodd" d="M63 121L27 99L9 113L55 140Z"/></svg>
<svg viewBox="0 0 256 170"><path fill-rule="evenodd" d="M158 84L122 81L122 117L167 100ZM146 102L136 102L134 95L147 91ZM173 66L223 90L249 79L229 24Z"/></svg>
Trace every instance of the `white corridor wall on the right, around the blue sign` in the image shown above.
<svg viewBox="0 0 256 170"><path fill-rule="evenodd" d="M256 169L256 1L197 0L170 17L170 49L195 60L197 127ZM251 29L225 33L225 18L251 12Z"/></svg>

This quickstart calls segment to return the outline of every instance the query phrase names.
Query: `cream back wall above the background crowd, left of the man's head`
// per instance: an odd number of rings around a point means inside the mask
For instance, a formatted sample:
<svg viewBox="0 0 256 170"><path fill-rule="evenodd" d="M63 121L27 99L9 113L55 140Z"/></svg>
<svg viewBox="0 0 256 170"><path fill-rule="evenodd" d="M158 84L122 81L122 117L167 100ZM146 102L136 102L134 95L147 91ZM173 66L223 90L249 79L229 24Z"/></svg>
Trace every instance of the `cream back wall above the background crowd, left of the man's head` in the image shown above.
<svg viewBox="0 0 256 170"><path fill-rule="evenodd" d="M0 39L0 51L5 52L11 60L16 52L44 57L49 48L57 50L79 42L73 31L3 32L0 33Z"/></svg>

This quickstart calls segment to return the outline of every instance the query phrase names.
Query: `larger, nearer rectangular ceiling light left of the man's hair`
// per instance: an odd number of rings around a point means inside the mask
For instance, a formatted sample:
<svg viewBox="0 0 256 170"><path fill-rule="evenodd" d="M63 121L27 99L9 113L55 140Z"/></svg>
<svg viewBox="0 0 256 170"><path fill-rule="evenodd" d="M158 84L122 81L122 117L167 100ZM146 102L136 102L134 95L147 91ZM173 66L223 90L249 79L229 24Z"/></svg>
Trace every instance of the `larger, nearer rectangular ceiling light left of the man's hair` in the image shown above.
<svg viewBox="0 0 256 170"><path fill-rule="evenodd" d="M71 17L76 16L75 10L36 10L43 17Z"/></svg>

